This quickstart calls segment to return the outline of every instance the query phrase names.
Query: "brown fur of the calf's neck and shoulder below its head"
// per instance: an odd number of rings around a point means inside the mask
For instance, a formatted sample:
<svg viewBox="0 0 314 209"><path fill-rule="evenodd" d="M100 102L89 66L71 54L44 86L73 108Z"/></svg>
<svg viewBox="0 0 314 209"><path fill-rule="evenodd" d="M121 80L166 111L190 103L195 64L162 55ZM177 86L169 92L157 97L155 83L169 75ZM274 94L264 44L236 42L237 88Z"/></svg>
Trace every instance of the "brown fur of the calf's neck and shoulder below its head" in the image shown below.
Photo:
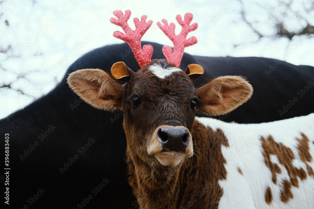
<svg viewBox="0 0 314 209"><path fill-rule="evenodd" d="M180 166L149 166L138 156L128 158L129 182L141 209L218 208L223 195L218 181L227 175L221 145L228 147L228 141L220 129L197 120L192 132L194 155Z"/></svg>

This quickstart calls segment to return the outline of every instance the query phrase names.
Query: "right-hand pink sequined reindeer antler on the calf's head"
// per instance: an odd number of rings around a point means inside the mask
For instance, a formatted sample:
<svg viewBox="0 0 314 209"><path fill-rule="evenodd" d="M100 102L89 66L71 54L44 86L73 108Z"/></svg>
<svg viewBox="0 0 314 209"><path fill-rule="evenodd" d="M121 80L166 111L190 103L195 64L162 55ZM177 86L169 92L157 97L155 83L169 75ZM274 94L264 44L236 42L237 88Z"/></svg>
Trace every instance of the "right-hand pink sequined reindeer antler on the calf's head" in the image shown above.
<svg viewBox="0 0 314 209"><path fill-rule="evenodd" d="M177 22L182 26L182 30L179 35L175 34L176 25L174 23L168 25L168 22L165 19L161 20L164 25L162 25L160 22L157 23L157 26L173 42L173 51L170 46L164 46L162 48L162 52L164 53L168 63L171 63L176 67L180 66L184 48L197 43L197 39L194 36L186 39L187 34L194 31L198 27L197 23L190 25L192 19L193 15L191 13L186 13L184 15L184 20L182 20L181 15L178 14L176 16Z"/></svg>

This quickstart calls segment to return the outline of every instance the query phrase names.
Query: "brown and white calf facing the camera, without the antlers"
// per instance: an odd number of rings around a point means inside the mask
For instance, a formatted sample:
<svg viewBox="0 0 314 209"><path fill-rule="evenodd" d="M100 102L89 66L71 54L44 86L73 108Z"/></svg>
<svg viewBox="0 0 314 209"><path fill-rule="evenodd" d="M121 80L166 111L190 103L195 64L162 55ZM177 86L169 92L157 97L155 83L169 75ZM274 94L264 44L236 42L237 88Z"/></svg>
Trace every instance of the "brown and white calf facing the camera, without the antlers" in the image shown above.
<svg viewBox="0 0 314 209"><path fill-rule="evenodd" d="M85 102L124 111L129 183L139 208L314 208L314 114L261 124L195 118L196 111L230 112L252 95L240 76L195 89L191 78L200 71L152 60L136 73L113 65L124 85L99 69L68 77Z"/></svg>

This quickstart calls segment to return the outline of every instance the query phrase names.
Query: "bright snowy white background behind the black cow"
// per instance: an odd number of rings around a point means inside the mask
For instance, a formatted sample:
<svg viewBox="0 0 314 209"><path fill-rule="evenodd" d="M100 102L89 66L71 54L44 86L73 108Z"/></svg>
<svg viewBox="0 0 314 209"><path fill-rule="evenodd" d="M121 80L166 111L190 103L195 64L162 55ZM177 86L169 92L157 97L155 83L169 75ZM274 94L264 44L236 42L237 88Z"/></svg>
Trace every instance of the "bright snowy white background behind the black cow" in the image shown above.
<svg viewBox="0 0 314 209"><path fill-rule="evenodd" d="M283 13L284 3L277 1L243 1L247 19L263 34L252 30L241 18L241 3L237 0L159 0L158 3L141 0L116 1L0 1L0 118L25 107L36 98L49 92L64 76L70 66L86 52L106 44L122 43L112 36L120 30L109 22L112 11L132 11L132 19L148 15L153 26L142 40L172 46L171 41L156 26L162 18L176 23L177 14L190 12L198 29L198 44L185 52L202 56L260 56L288 61L295 65L312 65L314 36L302 35L274 38L276 29L270 13ZM289 1L290 2L290 1ZM314 25L314 10L305 15L303 7L309 1L293 1L291 8L304 14ZM280 17L289 31L298 31L306 24L293 14ZM7 22L6 22L7 20ZM178 25L178 24L177 24ZM180 26L176 27L177 33ZM24 94L22 94L21 90Z"/></svg>

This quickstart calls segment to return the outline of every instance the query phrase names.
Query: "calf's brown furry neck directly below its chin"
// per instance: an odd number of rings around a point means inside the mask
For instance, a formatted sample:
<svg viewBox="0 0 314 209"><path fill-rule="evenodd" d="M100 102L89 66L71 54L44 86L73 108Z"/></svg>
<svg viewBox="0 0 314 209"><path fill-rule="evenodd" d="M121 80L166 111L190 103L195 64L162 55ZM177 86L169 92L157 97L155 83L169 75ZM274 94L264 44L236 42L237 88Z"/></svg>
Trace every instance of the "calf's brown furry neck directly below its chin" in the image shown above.
<svg viewBox="0 0 314 209"><path fill-rule="evenodd" d="M127 156L128 180L140 208L177 208L182 171L186 166L182 163L175 167L148 165L136 155Z"/></svg>

